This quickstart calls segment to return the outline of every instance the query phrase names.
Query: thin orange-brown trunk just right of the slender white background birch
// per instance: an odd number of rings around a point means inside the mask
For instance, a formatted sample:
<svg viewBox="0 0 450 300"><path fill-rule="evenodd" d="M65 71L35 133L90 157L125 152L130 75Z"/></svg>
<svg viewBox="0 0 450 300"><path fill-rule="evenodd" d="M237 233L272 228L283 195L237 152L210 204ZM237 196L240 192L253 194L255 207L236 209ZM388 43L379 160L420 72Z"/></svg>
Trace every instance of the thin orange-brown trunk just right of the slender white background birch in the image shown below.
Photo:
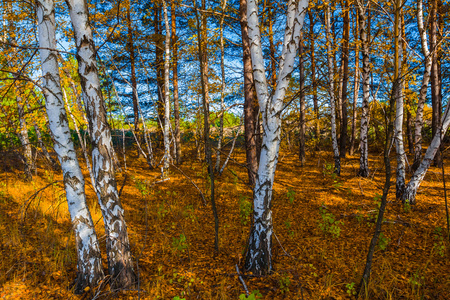
<svg viewBox="0 0 450 300"><path fill-rule="evenodd" d="M175 2L171 2L172 21L172 81L173 81L173 116L175 119L175 162L181 164L180 104L178 99L178 38Z"/></svg>

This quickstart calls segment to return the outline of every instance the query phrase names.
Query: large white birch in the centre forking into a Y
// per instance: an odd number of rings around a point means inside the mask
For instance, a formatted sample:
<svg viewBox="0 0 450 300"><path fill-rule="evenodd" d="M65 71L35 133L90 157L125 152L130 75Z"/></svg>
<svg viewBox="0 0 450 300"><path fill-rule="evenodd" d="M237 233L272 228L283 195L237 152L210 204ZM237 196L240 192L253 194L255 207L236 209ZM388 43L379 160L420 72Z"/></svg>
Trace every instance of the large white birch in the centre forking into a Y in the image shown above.
<svg viewBox="0 0 450 300"><path fill-rule="evenodd" d="M253 226L250 232L245 269L264 275L272 270L272 187L281 140L281 113L288 89L308 0L287 3L286 29L275 91L270 94L261 46L257 0L247 3L248 34L255 88L262 114L263 139L258 175L253 190Z"/></svg>

